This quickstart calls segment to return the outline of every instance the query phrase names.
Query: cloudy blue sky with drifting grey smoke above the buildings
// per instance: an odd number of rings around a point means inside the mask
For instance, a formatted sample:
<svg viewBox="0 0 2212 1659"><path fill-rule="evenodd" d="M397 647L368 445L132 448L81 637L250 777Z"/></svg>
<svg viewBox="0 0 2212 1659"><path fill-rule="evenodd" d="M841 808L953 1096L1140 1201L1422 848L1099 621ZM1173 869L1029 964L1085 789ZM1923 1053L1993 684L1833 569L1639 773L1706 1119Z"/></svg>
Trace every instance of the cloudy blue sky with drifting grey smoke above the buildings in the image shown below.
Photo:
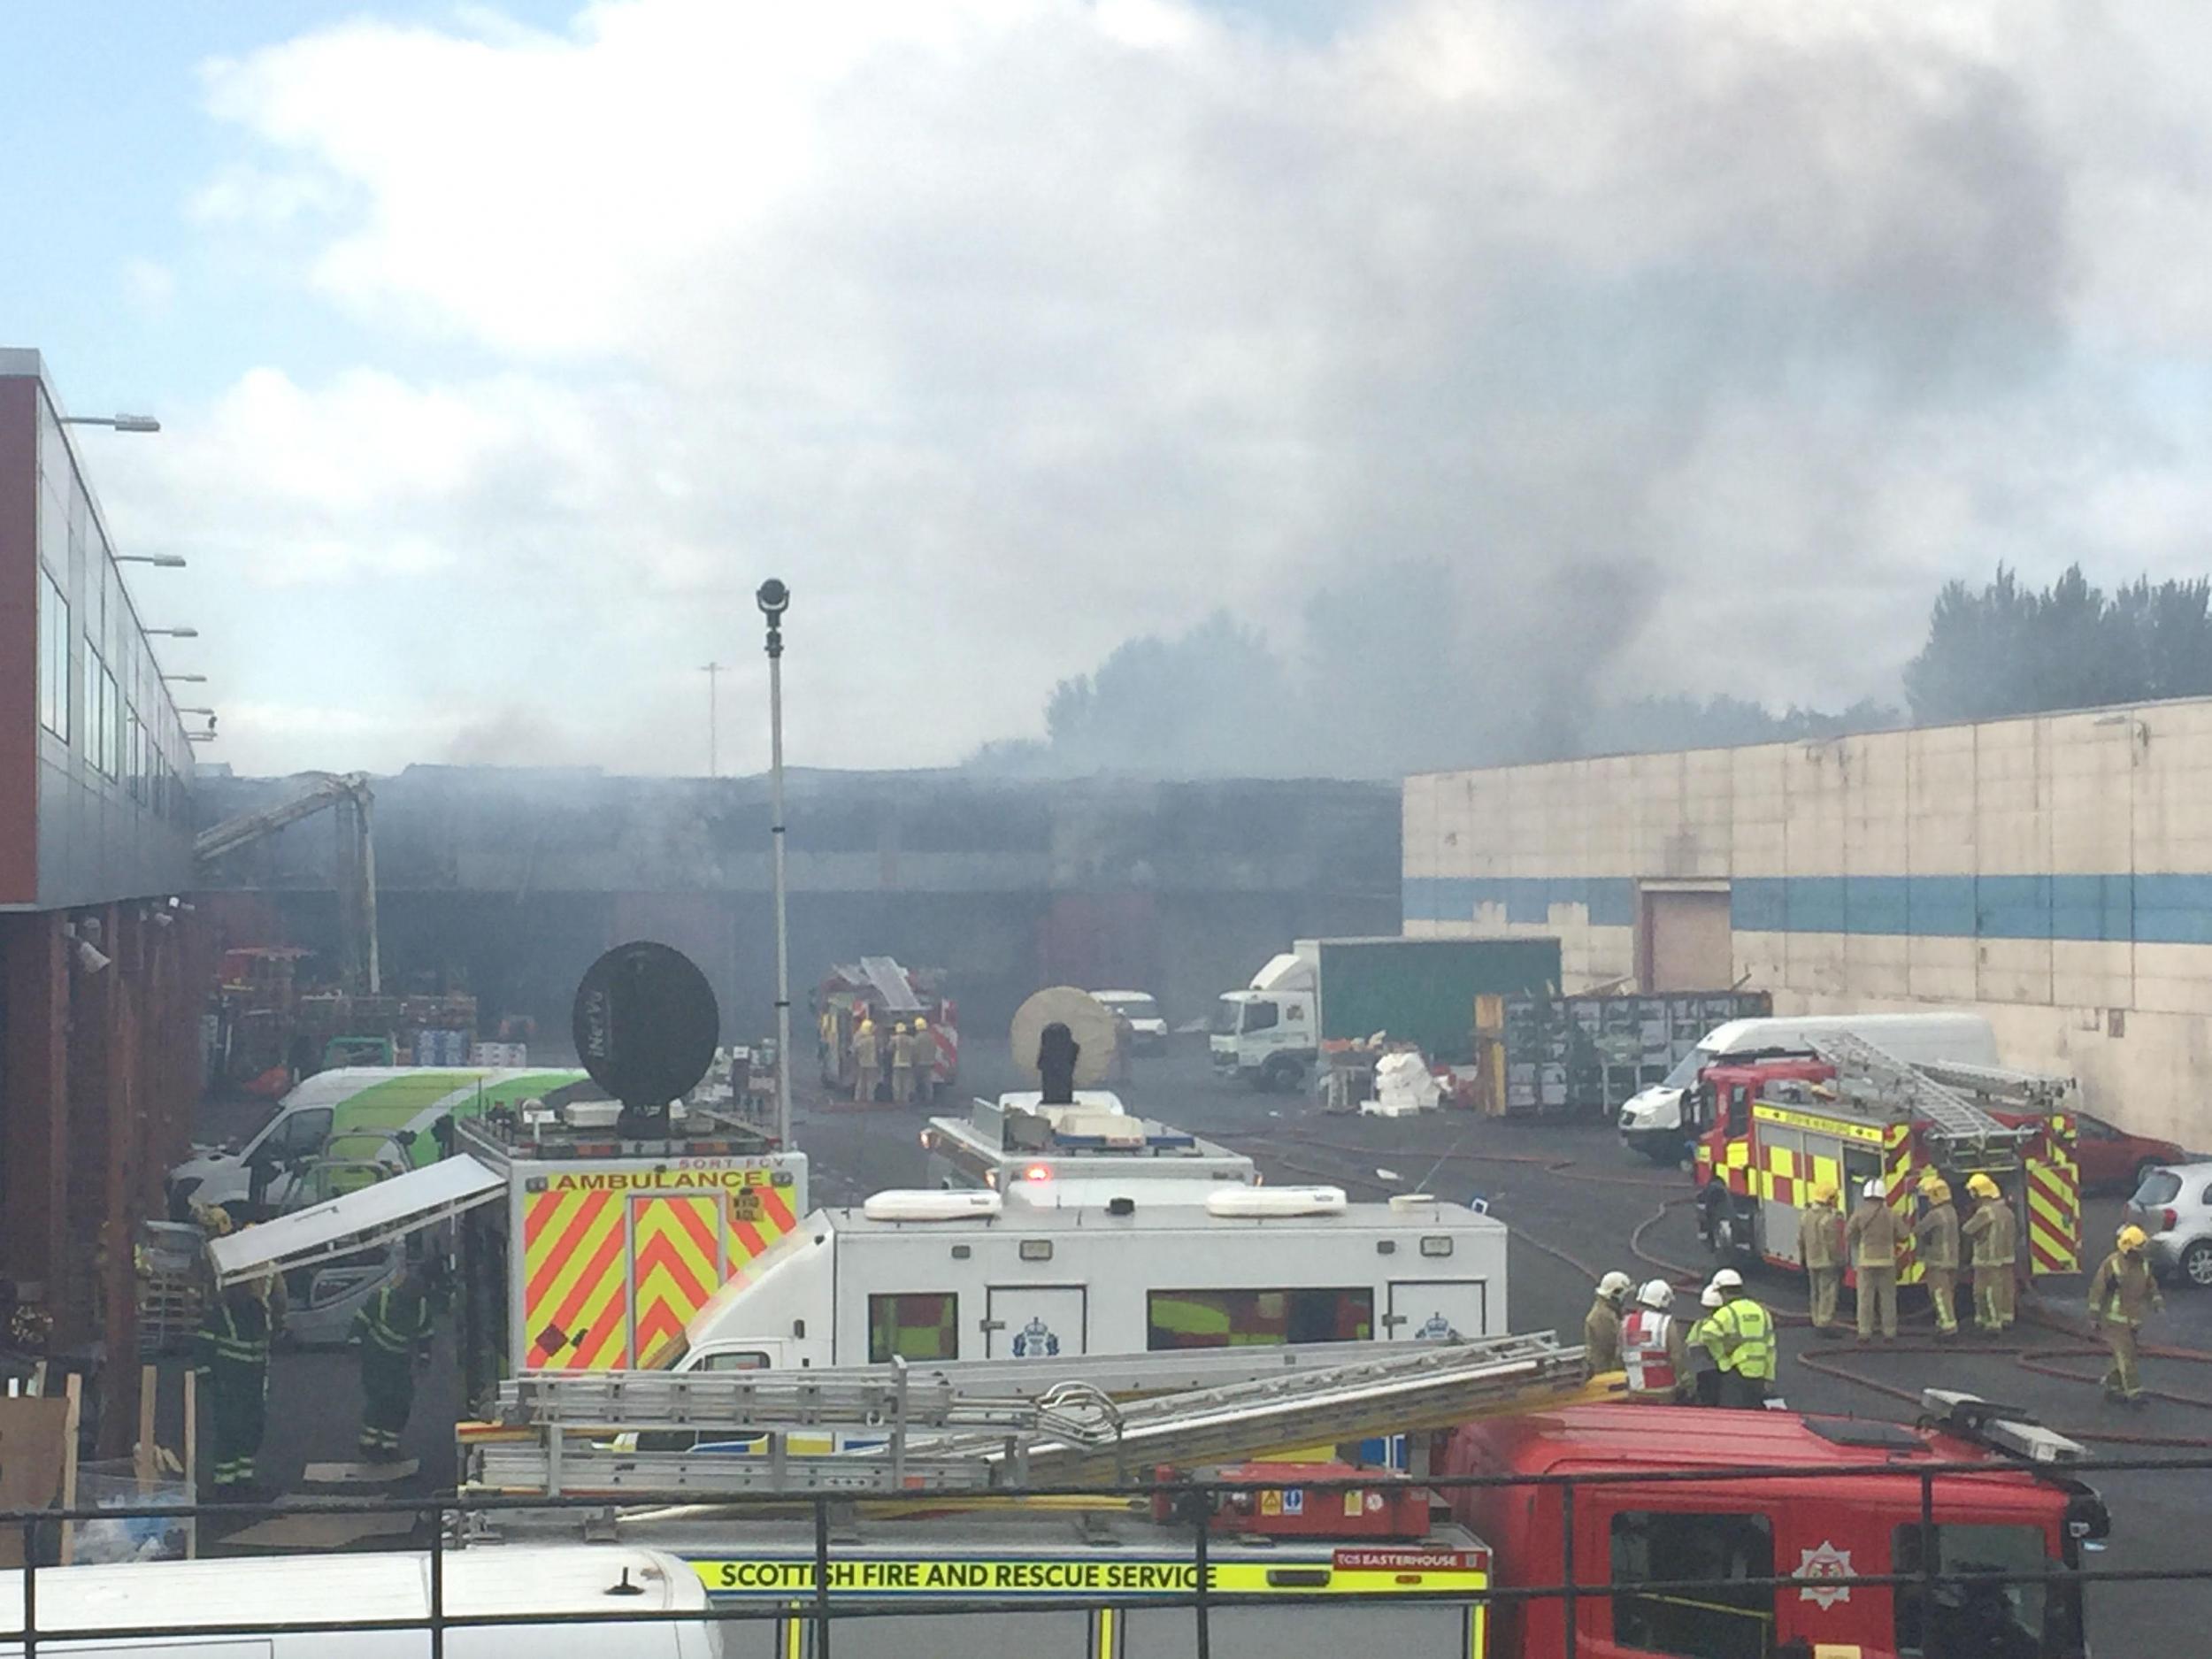
<svg viewBox="0 0 2212 1659"><path fill-rule="evenodd" d="M1896 697L2212 568L2212 11L22 0L46 352L210 759L949 763L1217 608ZM1352 599L1349 595L1358 595ZM1429 635L1422 635L1429 637ZM1451 664L1433 666L1451 672ZM1327 672L1358 675L1356 661ZM1402 666L1400 666L1402 670ZM1409 706L1407 719L1420 719Z"/></svg>

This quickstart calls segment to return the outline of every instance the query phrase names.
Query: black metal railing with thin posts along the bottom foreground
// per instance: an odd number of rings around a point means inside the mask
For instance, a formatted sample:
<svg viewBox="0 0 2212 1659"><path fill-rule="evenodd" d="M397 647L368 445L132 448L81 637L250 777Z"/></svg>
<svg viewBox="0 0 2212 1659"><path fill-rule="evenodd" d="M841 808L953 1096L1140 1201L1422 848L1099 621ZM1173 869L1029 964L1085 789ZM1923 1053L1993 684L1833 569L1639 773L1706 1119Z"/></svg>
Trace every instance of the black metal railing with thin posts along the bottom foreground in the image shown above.
<svg viewBox="0 0 2212 1659"><path fill-rule="evenodd" d="M1495 1577L1515 1577L1513 1562L1493 1557L1491 1577L1484 1588L1447 1586L1447 1588L1391 1588L1391 1590L1329 1590L1327 1601L1334 1606L1343 1604L1469 1604L1482 1606L1486 1610L1504 1610L1528 1604L1557 1601L1562 1608L1562 1637L1557 1652L1573 1659L1579 1646L1590 1639L1588 1630L1582 1630L1582 1604L1590 1599L1613 1599L1613 1597L1694 1597L1694 1595L1741 1595L1747 1590L1805 1590L1807 1586L1818 1586L1823 1590L1856 1590L1856 1588L1896 1588L1916 1586L1922 1595L1922 1608L1933 1608L1936 1593L1944 1586L1975 1586L1975 1588L2011 1588L2011 1586L2051 1586L2055 1582L2073 1586L2097 1586L2097 1584L2161 1584L2161 1582L2205 1582L2212 1579L2212 1559L2197 1566L2177 1568L2079 1568L2066 1566L2055 1559L2044 1559L2033 1568L2020 1571L1982 1571L1971 1573L1944 1573L1938 1568L1938 1531L1942 1526L1962 1524L1958 1506L1962 1504L1962 1482L1973 1480L2017 1480L2022 1473L2057 1475L2062 1486L2075 1482L2081 1475L2099 1473L2172 1473L2190 1475L2212 1471L2212 1451L2203 1455L2185 1458L2101 1458L2064 1464L2062 1469L2037 1469L2028 1471L2026 1464L2013 1460L1971 1460L1971 1462L1920 1462L1913 1467L1900 1467L1898 1462L1863 1462L1863 1464L1827 1464L1818 1469L1807 1469L1803 1464L1774 1464L1774 1467L1736 1467L1736 1469L1646 1469L1646 1471L1588 1471L1588 1473L1548 1473L1548 1475L1433 1475L1420 1478L1413 1484L1425 1486L1444 1498L1458 1493L1475 1493L1486 1489L1520 1489L1520 1491L1557 1491L1557 1540L1555 1555L1557 1577L1537 1584L1500 1584ZM1577 1495L1582 1495L1582 1506L1590 1502L1590 1491L1601 1489L1604 1495L1617 1498L1624 1489L1663 1489L1677 1484L1728 1484L1741 1482L1747 1493L1765 1482L1776 1480L1805 1480L1807 1475L1818 1475L1820 1480L1849 1480L1849 1478L1880 1478L1885 1482L1905 1484L1911 1482L1918 1491L1918 1504L1913 1511L1898 1509L1898 1515L1911 1513L1920 1528L1918 1540L1918 1568L1893 1571L1893 1573L1858 1573L1858 1571L1823 1571L1818 1577L1807 1577L1798 1573L1770 1573L1770 1575L1725 1575L1725 1577L1668 1577L1668 1579L1621 1579L1615 1582L1610 1575L1610 1562L1601 1562L1597 1575L1582 1562L1577 1562ZM1365 1478L1329 1478L1329 1480L1301 1480L1294 1482L1307 1493L1343 1493L1343 1491L1374 1491L1385 1480L1383 1471L1374 1471ZM1942 1522L1938 1522L1938 1489L1942 1489L1942 1506L1951 1511ZM655 1608L655 1610L608 1610L608 1613L584 1613L584 1610L526 1610L526 1613L469 1613L456 1610L447 1599L447 1562L458 1551L495 1553L509 1548L500 1542L489 1544L462 1544L458 1533L467 1526L478 1526L493 1515L529 1515L540 1526L544 1522L560 1520L562 1511L573 1513L577 1522L575 1537L584 1535L584 1522L591 1517L604 1517L611 1506L604 1498L495 1498L495 1495L434 1495L434 1498L334 1498L334 1500L268 1500L268 1502L223 1502L223 1504L201 1504L195 1509L177 1509L161 1504L119 1504L100 1509L40 1509L40 1511L4 1511L0 1513L0 1528L15 1528L22 1540L24 1566L22 1577L22 1624L15 1628L0 1630L0 1644L20 1644L24 1659L35 1659L42 1644L84 1644L84 1641L195 1641L210 1637L272 1637L288 1632L314 1632L314 1630L367 1630L367 1632L411 1632L420 1630L427 1635L429 1655L442 1659L447 1635L453 1630L482 1630L482 1628L524 1628L524 1626L588 1626L588 1624L757 1624L757 1621L799 1621L805 1626L810 1637L810 1659L830 1659L834 1626L843 1619L880 1619L880 1617L945 1617L945 1615L973 1615L973 1613L1037 1613L1037 1610L1068 1610L1068 1613L1104 1613L1104 1610L1188 1610L1194 1619L1194 1652L1199 1659L1210 1659L1212 1650L1212 1619L1225 1606L1252 1608L1252 1606L1312 1606L1314 1586L1312 1584L1287 1584L1283 1588L1270 1590L1223 1590L1217 1586L1214 1562L1217 1551L1234 1548L1239 1533L1223 1531L1214 1520L1214 1500L1228 1493L1250 1495L1254 1491L1252 1482L1206 1482L1206 1480L1170 1480L1170 1482L1146 1482L1137 1486L1033 1486L1033 1489L995 1489L987 1493L962 1491L958 1495L947 1493L911 1493L911 1495L880 1495L869 1493L865 1498L872 1513L885 1509L927 1509L947 1511L960 1509L969 1517L991 1515L993 1511L1013 1511L1022 1504L1035 1504L1037 1500L1055 1500L1066 1504L1068 1500L1091 1500L1102 1509L1119 1509L1133 1513L1133 1504L1148 1502L1155 1498L1170 1500L1170 1513L1177 1520L1157 1522L1161 1533L1161 1546L1188 1548L1190 1559L1190 1588L1188 1590L1144 1590L1144 1593L1088 1593L1088 1590L1053 1590L1048 1595L960 1595L945 1593L931 1595L929 1599L900 1599L887 1597L883 1593L872 1595L865 1588L856 1588L849 1595L836 1586L836 1564L843 1557L838 1544L841 1517L849 1511L852 1498L838 1493L741 1493L714 1502L717 1517L728 1517L730 1535L728 1544L717 1544L717 1548L741 1551L748 1542L759 1544L759 1540L748 1540L745 1528L754 1528L761 1522L750 1520L748 1511L779 1511L787 1515L807 1515L812 1520L812 1551L803 1557L794 1557L792 1551L783 1551L787 1559L803 1559L807 1564L807 1577L803 1584L794 1586L790 1593L779 1593L765 1597L761 1604L748 1606L737 1601L717 1601L712 1590L708 1590L708 1604L703 1608ZM2086 1495L2086 1493L2084 1493ZM692 1526L703 1524L697 1517L697 1500L692 1493L666 1493L661 1498L635 1495L624 1502L624 1511L635 1511L639 1504L666 1502L686 1506L695 1513ZM1756 1498L1745 1498L1745 1502L1756 1502ZM1674 1515L1683 1513L1714 1513L1714 1511L1668 1511ZM1725 1511L1734 1513L1734 1511ZM427 1533L427 1548L411 1544L407 1553L422 1553L427 1564L427 1608L422 1615L411 1617L332 1617L332 1619L234 1619L234 1621L195 1621L181 1626L177 1619L164 1619L159 1624L111 1624L95 1626L80 1619L69 1619L66 1624L42 1621L40 1619L40 1584L51 1579L55 1573L82 1573L91 1568L82 1566L53 1566L40 1562L40 1546L49 1542L53 1531L64 1522L115 1522L115 1520L164 1520L175 1522L179 1517L215 1517L215 1520L257 1520L272 1515L389 1515L407 1517L414 1526ZM958 1522L951 1522L958 1526ZM1885 1524L1889 1531L1896 1522ZM1973 1520L1964 1520L1973 1524ZM2015 1522L2026 1524L2026 1522ZM920 1522L889 1520L887 1533L872 1540L872 1548L880 1546L885 1537L894 1537L902 1528L914 1526L914 1544L920 1546L914 1553L929 1553L929 1535L920 1531ZM1548 1537L1548 1533L1546 1533ZM533 1533L529 1542L546 1542L544 1533ZM909 1542L907 1537L896 1537L898 1544ZM1376 1548L1376 1551L1418 1551L1418 1542L1407 1544L1400 1540L1327 1540L1314 1537L1305 1540L1312 1544L1334 1544L1336 1548ZM1495 1546L1495 1540L1484 1540ZM1588 1540L1584 1540L1588 1544ZM1526 1546L1537 1546L1535 1535L1528 1537ZM622 1537L617 1544L602 1544L602 1548L628 1548L628 1551L664 1551L670 1555L699 1557L699 1548L670 1546L650 1535L650 1522L637 1522L637 1533ZM1020 1548L1020 1546L1018 1546ZM310 1551L299 1551L307 1555ZM876 1551L880 1555L880 1548ZM953 1555L973 1555L973 1548L951 1551ZM1073 1551L1071 1551L1073 1553ZM1159 1548L1152 1551L1155 1555ZM113 1571L142 1571L137 1564L117 1566ZM153 1564L144 1571L159 1571ZM243 1586L241 1586L243 1593ZM1765 1615L1745 1608L1745 1617L1763 1617L1767 1624L1774 1621L1772 1604ZM1772 1637L1772 1632L1770 1632ZM1787 1655L1796 1648L1785 1644L1774 1648L1770 1641L1770 1652ZM1464 1648L1462 1648L1464 1652ZM1498 1652L1498 1650L1493 1650ZM1940 1652L1940 1650L1938 1650ZM1500 1655L1509 1659L1509 1655Z"/></svg>

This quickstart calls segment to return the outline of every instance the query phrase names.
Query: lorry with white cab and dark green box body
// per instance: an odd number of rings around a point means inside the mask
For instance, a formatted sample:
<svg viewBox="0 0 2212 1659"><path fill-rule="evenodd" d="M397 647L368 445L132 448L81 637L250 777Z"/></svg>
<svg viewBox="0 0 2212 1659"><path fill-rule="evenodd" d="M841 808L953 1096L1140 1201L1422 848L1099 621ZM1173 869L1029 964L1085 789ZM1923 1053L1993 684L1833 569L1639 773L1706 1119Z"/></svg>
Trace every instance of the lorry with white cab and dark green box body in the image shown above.
<svg viewBox="0 0 2212 1659"><path fill-rule="evenodd" d="M1323 1042L1411 1042L1431 1064L1473 1064L1475 998L1559 989L1555 938L1305 938L1214 1002L1219 1077L1296 1091Z"/></svg>

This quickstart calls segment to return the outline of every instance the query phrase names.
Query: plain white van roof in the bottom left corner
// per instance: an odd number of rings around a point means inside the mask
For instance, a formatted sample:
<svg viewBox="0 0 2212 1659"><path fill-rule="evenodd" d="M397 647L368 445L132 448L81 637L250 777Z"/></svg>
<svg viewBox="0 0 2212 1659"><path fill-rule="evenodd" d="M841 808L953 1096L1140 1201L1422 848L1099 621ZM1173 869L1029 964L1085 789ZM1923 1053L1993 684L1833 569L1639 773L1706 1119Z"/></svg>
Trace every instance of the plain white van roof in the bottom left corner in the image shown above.
<svg viewBox="0 0 2212 1659"><path fill-rule="evenodd" d="M653 1548L622 1544L449 1551L442 1610L456 1619L595 1615L593 1624L449 1626L451 1659L719 1659L721 1628L706 1617L699 1571ZM164 1655L179 1659L429 1659L429 1555L290 1555L212 1562L53 1566L38 1575L38 1650ZM697 1619L670 1613L697 1610ZM604 1615L659 1615L602 1624ZM22 1573L0 1573L0 1621L24 1624ZM361 1624L422 1621L416 1630ZM259 1635L221 1635L228 1626ZM137 1630L102 1637L100 1630ZM144 1635L159 1630L161 1635ZM0 1641L20 1655L22 1641Z"/></svg>

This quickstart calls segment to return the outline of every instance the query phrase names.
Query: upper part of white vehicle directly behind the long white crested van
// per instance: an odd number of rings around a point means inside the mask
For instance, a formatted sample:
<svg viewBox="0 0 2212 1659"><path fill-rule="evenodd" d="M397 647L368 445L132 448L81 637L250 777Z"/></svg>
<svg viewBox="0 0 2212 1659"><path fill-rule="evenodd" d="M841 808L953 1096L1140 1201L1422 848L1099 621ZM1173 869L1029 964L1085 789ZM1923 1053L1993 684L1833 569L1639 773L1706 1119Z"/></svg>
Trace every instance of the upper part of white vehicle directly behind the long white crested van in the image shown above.
<svg viewBox="0 0 2212 1659"><path fill-rule="evenodd" d="M929 1183L1006 1190L1013 1181L1144 1177L1254 1186L1259 1170L1190 1130L1133 1117L1106 1088L1077 1088L1073 1106L1035 1091L978 1099L969 1115L931 1117L922 1130Z"/></svg>

